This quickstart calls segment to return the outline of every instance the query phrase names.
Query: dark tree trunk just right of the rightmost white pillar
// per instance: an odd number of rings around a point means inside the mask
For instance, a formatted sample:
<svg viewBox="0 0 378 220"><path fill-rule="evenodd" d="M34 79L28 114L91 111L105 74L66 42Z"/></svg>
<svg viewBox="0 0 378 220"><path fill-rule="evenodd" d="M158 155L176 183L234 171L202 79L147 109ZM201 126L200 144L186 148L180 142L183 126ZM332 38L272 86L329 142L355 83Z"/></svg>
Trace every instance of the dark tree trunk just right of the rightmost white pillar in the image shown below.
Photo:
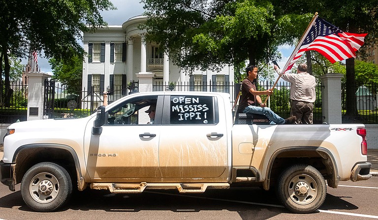
<svg viewBox="0 0 378 220"><path fill-rule="evenodd" d="M356 89L356 81L355 81L355 72L354 72L354 58L346 59L346 112L345 116L347 116L348 121L353 120L355 121L356 117L358 116L357 111L357 98L355 94Z"/></svg>

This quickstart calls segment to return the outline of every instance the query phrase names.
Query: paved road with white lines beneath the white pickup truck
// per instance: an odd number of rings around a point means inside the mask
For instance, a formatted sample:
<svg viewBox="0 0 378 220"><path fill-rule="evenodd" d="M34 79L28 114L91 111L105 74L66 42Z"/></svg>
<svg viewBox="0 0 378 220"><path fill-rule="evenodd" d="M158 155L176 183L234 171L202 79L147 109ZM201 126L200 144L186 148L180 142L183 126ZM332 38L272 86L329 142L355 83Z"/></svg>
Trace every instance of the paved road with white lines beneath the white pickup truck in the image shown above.
<svg viewBox="0 0 378 220"><path fill-rule="evenodd" d="M3 220L363 220L378 219L378 177L362 182L341 182L328 188L327 198L318 212L289 213L274 193L259 188L209 190L200 194L180 194L174 190L111 194L86 190L76 193L70 203L56 213L32 212L16 186L10 192L0 185L0 219Z"/></svg>

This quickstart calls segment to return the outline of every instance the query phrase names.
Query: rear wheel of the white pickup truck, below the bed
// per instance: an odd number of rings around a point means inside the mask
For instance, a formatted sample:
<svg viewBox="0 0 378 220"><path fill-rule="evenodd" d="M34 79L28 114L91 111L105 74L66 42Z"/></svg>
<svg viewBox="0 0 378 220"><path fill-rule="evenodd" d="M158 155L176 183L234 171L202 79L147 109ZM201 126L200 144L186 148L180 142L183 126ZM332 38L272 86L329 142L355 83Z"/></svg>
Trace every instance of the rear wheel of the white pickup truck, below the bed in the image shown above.
<svg viewBox="0 0 378 220"><path fill-rule="evenodd" d="M323 204L326 194L325 180L313 166L290 166L279 178L277 195L291 212L314 212Z"/></svg>

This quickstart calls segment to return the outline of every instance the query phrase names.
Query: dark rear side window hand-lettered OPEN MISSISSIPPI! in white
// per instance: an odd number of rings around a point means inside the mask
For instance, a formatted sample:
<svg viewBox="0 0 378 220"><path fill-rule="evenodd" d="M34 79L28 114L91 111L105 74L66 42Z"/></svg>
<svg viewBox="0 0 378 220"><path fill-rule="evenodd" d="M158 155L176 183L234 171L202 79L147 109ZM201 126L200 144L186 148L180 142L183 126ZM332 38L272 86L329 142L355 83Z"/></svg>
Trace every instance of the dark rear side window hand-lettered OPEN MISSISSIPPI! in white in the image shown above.
<svg viewBox="0 0 378 220"><path fill-rule="evenodd" d="M171 96L171 124L214 123L213 97Z"/></svg>

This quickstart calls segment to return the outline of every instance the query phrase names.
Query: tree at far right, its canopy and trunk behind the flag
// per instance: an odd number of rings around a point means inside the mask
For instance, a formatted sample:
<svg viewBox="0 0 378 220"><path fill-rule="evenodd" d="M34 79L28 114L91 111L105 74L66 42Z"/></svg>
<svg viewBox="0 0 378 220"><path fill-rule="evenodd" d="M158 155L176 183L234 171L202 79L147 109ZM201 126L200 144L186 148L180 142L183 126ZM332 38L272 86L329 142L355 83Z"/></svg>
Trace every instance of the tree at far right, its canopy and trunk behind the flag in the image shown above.
<svg viewBox="0 0 378 220"><path fill-rule="evenodd" d="M365 50L377 42L378 34L378 2L377 0L273 0L273 5L282 13L315 13L341 30L350 33L369 33L365 37L365 45L357 52L362 57ZM346 60L347 110L346 116L358 115L355 91L354 58Z"/></svg>

